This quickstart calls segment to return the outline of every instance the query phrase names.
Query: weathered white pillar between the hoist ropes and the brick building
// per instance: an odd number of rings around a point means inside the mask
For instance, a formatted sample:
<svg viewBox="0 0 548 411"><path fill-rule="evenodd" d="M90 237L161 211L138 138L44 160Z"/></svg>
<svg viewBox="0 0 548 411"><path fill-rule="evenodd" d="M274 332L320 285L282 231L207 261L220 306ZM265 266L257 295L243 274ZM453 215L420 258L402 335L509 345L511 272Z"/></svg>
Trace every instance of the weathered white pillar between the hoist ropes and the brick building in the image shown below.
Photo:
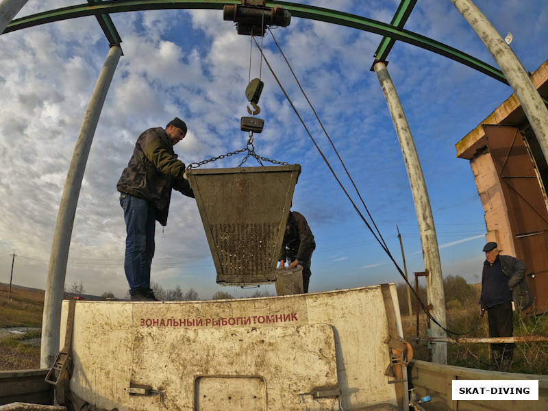
<svg viewBox="0 0 548 411"><path fill-rule="evenodd" d="M441 273L440 251L438 249L438 237L434 227L434 216L426 190L423 170L419 155L416 153L416 147L409 129L406 114L403 112L401 102L396 89L384 62L375 62L373 69L379 77L379 82L384 92L392 121L396 128L396 133L403 154L403 161L406 163L406 169L411 185L413 201L415 204L416 219L419 223L419 232L421 234L421 244L423 246L423 258L425 269L429 271L427 278L428 302L432 304L432 316L443 327L447 328L447 316L445 315L445 294L443 292L443 277ZM445 331L435 323L431 323L432 336L445 337ZM447 364L447 344L432 344L432 362L438 364Z"/></svg>

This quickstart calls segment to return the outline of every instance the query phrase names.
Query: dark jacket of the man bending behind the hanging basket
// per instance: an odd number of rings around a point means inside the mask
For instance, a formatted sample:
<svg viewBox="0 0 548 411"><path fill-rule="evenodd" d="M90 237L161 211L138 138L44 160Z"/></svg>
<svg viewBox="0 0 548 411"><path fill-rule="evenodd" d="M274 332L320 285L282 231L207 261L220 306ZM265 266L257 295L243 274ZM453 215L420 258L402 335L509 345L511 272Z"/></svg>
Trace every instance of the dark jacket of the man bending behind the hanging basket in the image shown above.
<svg viewBox="0 0 548 411"><path fill-rule="evenodd" d="M288 256L291 261L308 261L312 258L314 249L316 242L306 219L297 211L290 212L278 261L287 261Z"/></svg>

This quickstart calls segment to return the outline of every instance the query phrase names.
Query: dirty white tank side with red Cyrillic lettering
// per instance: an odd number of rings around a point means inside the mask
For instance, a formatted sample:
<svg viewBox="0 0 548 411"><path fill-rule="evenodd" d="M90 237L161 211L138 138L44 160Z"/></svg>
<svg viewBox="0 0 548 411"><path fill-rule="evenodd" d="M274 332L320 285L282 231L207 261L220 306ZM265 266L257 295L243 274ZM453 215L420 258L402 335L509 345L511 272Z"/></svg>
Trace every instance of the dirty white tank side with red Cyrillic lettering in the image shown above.
<svg viewBox="0 0 548 411"><path fill-rule="evenodd" d="M390 295L402 335L393 284ZM65 301L63 323L67 308ZM385 375L388 335L380 286L224 301L77 301L70 386L120 411L397 405L397 384ZM151 395L130 395L132 386L149 386Z"/></svg>

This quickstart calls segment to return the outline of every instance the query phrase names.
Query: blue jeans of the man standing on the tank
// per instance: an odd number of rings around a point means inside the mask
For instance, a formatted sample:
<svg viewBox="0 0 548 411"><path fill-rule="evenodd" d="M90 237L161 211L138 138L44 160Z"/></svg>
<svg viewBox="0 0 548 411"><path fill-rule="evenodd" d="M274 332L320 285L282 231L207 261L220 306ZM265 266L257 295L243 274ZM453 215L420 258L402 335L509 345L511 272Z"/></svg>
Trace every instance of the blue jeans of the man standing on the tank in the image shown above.
<svg viewBox="0 0 548 411"><path fill-rule="evenodd" d="M124 210L125 259L124 271L129 294L147 293L150 288L150 266L154 257L155 207L145 199L121 193L120 205Z"/></svg>

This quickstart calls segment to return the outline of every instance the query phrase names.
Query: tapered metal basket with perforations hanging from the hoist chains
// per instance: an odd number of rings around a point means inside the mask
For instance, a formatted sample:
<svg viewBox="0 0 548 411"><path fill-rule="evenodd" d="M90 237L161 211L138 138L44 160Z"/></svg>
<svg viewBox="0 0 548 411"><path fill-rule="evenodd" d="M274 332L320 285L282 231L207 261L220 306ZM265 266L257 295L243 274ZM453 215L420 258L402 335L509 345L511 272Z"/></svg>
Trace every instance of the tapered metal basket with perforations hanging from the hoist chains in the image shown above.
<svg viewBox="0 0 548 411"><path fill-rule="evenodd" d="M221 285L276 281L299 164L288 166L189 169Z"/></svg>

